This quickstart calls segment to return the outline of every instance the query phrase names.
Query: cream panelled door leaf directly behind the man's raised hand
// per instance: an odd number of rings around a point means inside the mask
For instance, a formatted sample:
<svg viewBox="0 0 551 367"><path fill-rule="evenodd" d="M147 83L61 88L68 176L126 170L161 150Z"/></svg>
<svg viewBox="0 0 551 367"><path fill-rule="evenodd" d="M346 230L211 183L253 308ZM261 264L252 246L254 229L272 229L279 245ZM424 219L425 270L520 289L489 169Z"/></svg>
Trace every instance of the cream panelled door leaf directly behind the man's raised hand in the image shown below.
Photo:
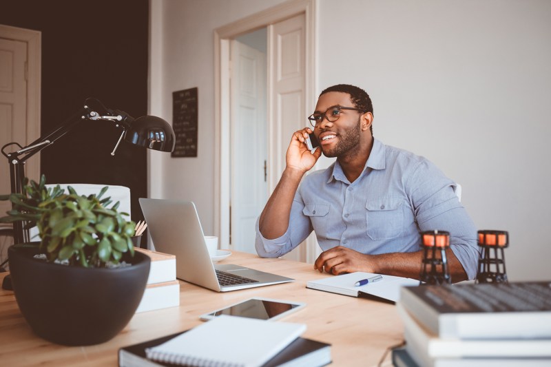
<svg viewBox="0 0 551 367"><path fill-rule="evenodd" d="M304 14L270 25L268 37L271 63L269 192L272 192L285 169L291 135L306 126ZM306 253L305 244L301 244L284 257L304 261Z"/></svg>

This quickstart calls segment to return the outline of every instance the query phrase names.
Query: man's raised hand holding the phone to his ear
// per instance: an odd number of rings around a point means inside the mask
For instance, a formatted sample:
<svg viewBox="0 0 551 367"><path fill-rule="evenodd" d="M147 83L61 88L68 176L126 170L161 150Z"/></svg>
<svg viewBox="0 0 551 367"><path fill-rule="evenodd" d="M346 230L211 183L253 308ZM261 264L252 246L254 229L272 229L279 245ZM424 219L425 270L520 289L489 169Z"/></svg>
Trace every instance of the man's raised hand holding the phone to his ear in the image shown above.
<svg viewBox="0 0 551 367"><path fill-rule="evenodd" d="M304 127L304 129L293 133L291 144L289 144L289 148L287 149L287 167L300 169L300 171L306 172L309 171L315 165L315 162L318 161L322 155L322 149L320 147L314 147L313 144L312 148L309 149L309 145L307 143L307 139L310 138L309 134L313 135L313 132L309 127ZM313 143L311 138L310 141ZM312 149L315 149L315 151L311 152Z"/></svg>

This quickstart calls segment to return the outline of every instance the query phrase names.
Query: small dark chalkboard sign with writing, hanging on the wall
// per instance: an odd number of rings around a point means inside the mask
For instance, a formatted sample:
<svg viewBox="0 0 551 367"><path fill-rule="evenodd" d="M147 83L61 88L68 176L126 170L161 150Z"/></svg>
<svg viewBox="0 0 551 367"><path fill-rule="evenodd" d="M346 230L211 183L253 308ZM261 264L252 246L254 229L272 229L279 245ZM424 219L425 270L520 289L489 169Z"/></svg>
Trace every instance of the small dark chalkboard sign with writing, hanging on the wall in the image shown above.
<svg viewBox="0 0 551 367"><path fill-rule="evenodd" d="M173 157L197 156L197 88L172 92Z"/></svg>

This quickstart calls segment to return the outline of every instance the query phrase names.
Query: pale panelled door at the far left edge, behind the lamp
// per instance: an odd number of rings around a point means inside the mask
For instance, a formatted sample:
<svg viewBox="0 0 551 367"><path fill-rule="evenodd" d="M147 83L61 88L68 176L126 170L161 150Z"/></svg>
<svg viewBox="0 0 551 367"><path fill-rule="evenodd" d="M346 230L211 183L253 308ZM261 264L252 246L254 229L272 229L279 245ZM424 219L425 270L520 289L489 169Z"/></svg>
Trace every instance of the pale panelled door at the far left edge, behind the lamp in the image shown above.
<svg viewBox="0 0 551 367"><path fill-rule="evenodd" d="M0 38L0 147L17 142L27 145L27 83L25 64L27 43ZM7 152L19 149L6 147ZM8 159L0 156L0 193L10 193ZM0 201L0 216L11 209L11 203Z"/></svg>

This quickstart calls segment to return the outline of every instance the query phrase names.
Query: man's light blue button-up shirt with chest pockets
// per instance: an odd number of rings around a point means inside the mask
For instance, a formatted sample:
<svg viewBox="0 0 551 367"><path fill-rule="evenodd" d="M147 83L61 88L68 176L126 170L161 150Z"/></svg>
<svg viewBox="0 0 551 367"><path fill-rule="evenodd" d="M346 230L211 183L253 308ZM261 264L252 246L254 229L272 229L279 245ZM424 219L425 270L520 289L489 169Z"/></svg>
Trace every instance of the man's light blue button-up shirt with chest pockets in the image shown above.
<svg viewBox="0 0 551 367"><path fill-rule="evenodd" d="M315 231L323 251L337 246L369 254L419 251L421 231L448 231L450 248L469 279L477 275L477 229L455 195L455 182L433 163L374 139L354 182L336 161L304 177L293 199L289 227L267 240L256 222L256 251L275 258ZM421 264L419 264L419 269Z"/></svg>

